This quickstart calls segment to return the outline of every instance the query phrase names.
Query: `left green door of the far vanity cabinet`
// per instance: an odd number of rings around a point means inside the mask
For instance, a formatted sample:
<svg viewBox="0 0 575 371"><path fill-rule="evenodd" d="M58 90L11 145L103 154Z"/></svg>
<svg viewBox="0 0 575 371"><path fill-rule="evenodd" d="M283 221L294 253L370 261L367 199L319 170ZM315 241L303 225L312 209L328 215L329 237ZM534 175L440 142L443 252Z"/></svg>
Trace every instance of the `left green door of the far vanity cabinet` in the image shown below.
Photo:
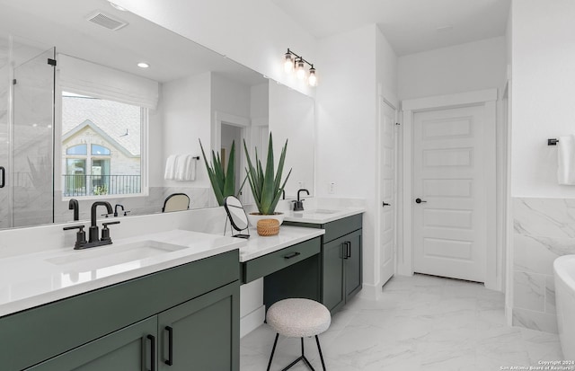
<svg viewBox="0 0 575 371"><path fill-rule="evenodd" d="M323 243L323 305L330 311L343 305L343 249L344 239Z"/></svg>

